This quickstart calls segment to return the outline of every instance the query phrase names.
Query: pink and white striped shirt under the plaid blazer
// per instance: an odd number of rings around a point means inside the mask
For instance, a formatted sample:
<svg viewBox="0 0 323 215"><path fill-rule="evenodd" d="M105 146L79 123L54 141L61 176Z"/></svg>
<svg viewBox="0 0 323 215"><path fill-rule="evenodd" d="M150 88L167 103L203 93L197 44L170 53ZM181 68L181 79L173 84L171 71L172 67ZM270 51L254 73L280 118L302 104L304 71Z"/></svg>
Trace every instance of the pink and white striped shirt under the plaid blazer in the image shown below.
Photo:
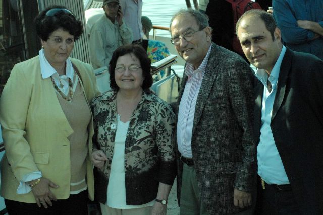
<svg viewBox="0 0 323 215"><path fill-rule="evenodd" d="M211 45L208 48L206 56L201 65L194 70L194 66L190 63L186 64L185 74L188 79L184 88L184 92L180 101L177 121L177 144L178 150L185 158L192 158L192 129L195 113L195 105L198 92L202 84L205 73L205 67L208 61L208 56L211 52Z"/></svg>

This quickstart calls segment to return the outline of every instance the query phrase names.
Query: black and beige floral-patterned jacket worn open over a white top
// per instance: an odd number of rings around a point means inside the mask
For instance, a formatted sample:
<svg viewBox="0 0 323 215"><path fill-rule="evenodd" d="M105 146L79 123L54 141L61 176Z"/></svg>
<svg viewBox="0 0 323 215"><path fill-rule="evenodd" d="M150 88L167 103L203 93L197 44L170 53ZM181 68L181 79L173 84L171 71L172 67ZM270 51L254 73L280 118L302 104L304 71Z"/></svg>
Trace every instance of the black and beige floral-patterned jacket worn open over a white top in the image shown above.
<svg viewBox="0 0 323 215"><path fill-rule="evenodd" d="M93 99L96 124L93 145L107 156L102 169L95 168L95 198L106 202L117 128L117 92ZM174 152L175 115L171 107L150 91L144 91L131 115L125 142L126 201L141 205L156 198L159 182L172 185L176 175Z"/></svg>

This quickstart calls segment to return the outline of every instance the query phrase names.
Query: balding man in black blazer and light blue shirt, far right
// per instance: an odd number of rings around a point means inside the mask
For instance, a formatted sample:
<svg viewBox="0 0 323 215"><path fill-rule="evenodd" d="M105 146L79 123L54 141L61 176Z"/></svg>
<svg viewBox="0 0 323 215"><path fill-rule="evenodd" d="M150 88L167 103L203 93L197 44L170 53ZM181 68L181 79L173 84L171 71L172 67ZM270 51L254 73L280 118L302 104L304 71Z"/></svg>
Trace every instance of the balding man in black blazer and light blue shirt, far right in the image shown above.
<svg viewBox="0 0 323 215"><path fill-rule="evenodd" d="M236 31L257 68L257 214L323 214L323 61L283 46L264 11L246 12Z"/></svg>

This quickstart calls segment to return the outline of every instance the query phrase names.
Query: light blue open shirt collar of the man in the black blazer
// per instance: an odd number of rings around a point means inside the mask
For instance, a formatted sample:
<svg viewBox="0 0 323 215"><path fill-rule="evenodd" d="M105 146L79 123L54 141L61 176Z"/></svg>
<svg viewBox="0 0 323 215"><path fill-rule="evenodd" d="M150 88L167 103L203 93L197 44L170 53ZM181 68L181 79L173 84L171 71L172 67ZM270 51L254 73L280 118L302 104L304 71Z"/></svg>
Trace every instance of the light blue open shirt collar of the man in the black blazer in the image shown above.
<svg viewBox="0 0 323 215"><path fill-rule="evenodd" d="M286 53L286 47L283 45L282 51L281 51L275 65L274 65L274 67L271 71L270 77L269 77L269 81L272 83L273 89L277 84L280 69L281 69L281 64L282 64L283 58L285 56L285 53ZM257 77L257 79L259 79L259 81L264 86L267 86L268 74L266 73L266 71L264 69L259 69L259 68L256 69L255 76Z"/></svg>

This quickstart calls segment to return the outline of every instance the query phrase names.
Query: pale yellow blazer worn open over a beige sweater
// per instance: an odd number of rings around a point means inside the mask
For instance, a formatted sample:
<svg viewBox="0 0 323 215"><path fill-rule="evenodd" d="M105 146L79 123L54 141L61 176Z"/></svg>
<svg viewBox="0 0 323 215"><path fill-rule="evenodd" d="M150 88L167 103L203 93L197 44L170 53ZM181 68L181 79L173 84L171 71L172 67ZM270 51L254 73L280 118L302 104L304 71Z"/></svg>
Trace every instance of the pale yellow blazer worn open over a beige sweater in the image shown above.
<svg viewBox="0 0 323 215"><path fill-rule="evenodd" d="M98 94L93 68L77 59L71 61L82 78L88 102ZM73 130L65 117L50 78L42 79L39 57L18 63L11 71L0 98L0 123L6 153L1 163L1 196L35 203L32 192L17 194L25 174L41 171L59 185L51 188L57 199L70 195L71 161L68 136ZM86 179L89 198L94 199L92 152L93 119L88 126Z"/></svg>

